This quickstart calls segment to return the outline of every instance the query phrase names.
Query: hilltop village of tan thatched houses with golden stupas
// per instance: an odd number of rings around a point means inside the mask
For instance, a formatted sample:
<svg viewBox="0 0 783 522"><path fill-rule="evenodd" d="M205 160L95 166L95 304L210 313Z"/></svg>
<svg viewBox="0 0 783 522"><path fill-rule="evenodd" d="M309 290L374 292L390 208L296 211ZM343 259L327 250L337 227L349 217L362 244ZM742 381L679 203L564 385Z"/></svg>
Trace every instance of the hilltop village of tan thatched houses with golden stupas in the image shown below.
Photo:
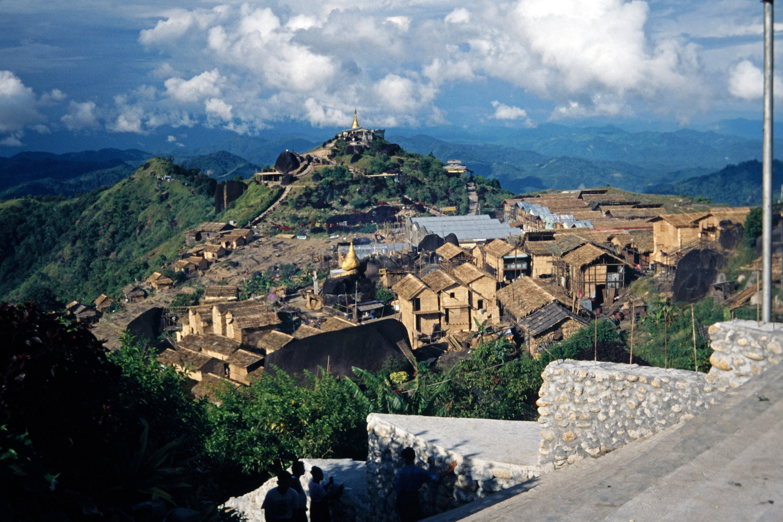
<svg viewBox="0 0 783 522"><path fill-rule="evenodd" d="M67 311L96 323L110 347L125 328L161 339L159 361L186 371L193 394L208 396L211 384L247 386L270 365L300 378L305 370L377 371L395 359L411 371L422 361L453 365L488 335L537 358L594 318L626 327L644 317L646 296L632 296L629 285L645 276L672 301L709 295L736 308L755 295L732 295L723 274L698 267L695 285L673 277L692 250L731 250L749 207L686 202L672 213L665 203L601 188L519 195L482 212L460 160L442 168L468 179L467 215L401 196L327 220L325 233L270 230L270 216L299 184L320 182L321 169L338 161L367 182L401 175L399 147L385 142L384 171L350 167L383 137L354 115L352 128L319 149L284 151L247 182L219 183L216 212L252 184L283 190L244 226L190 229L178 261L121 295L74 301ZM357 232L368 222L372 233Z"/></svg>

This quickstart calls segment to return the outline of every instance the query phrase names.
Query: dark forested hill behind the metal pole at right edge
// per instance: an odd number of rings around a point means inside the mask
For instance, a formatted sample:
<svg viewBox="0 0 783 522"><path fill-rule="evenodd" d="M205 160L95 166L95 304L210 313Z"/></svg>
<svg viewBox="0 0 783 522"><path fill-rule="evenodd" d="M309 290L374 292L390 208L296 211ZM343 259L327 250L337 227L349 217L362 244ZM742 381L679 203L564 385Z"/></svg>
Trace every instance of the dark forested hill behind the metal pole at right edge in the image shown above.
<svg viewBox="0 0 783 522"><path fill-rule="evenodd" d="M759 161L745 161L738 165L724 167L713 174L697 176L669 185L658 185L648 192L705 196L711 198L714 203L727 203L734 207L756 206L761 204L761 167ZM783 173L783 163L775 160L772 181L774 191L780 189L783 183L781 173Z"/></svg>

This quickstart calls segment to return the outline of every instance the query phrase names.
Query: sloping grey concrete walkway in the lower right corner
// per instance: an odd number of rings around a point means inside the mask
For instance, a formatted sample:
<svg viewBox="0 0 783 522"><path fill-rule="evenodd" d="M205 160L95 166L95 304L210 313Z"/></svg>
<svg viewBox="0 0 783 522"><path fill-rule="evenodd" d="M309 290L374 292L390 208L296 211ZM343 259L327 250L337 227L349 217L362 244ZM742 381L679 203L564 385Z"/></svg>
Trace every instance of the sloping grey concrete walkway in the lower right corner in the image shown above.
<svg viewBox="0 0 783 522"><path fill-rule="evenodd" d="M783 365L695 419L426 520L783 520Z"/></svg>

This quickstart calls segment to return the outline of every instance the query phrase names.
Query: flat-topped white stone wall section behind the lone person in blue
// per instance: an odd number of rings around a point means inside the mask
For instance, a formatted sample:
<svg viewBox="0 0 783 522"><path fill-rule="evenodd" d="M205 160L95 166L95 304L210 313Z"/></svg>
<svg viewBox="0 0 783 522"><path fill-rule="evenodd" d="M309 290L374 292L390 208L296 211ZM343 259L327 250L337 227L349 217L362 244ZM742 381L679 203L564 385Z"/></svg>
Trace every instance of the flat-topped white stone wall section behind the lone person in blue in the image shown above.
<svg viewBox="0 0 783 522"><path fill-rule="evenodd" d="M425 484L420 489L422 510L427 516L462 506L541 474L535 456L540 437L536 423L373 413L367 417L367 432L370 446L367 491L373 520L377 522L399 520L395 512L394 484L397 473L405 465L400 452L407 447L416 451L416 465L431 473L445 470L452 460L457 462L454 473L437 484ZM475 451L474 445L491 446L493 442L507 445L511 450L505 454L508 456L492 450ZM488 458L493 453L495 459ZM513 462L503 462L507 460Z"/></svg>

